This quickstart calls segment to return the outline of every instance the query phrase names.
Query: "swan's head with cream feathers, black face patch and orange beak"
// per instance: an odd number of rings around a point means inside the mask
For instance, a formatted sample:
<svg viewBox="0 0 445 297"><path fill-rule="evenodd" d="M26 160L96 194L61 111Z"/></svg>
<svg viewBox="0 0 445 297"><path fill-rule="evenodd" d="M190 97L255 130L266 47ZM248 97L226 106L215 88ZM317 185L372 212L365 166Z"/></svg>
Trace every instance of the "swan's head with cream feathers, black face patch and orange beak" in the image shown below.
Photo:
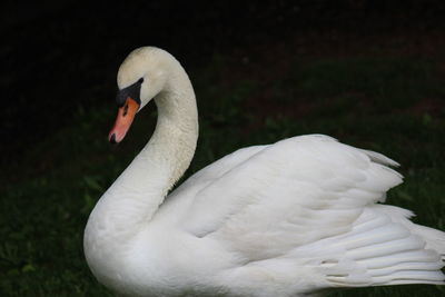
<svg viewBox="0 0 445 297"><path fill-rule="evenodd" d="M175 58L155 47L138 48L128 55L119 67L116 101L118 117L108 139L120 142L130 128L136 113L165 89Z"/></svg>

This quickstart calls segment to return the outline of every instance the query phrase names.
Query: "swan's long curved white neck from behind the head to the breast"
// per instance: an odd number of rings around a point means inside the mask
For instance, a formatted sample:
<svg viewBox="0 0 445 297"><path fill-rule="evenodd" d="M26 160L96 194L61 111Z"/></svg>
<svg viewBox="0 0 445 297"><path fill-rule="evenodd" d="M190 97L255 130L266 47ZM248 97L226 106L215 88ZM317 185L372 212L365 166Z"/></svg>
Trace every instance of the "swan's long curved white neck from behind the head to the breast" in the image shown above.
<svg viewBox="0 0 445 297"><path fill-rule="evenodd" d="M96 205L86 228L86 250L106 249L108 242L116 248L137 235L192 159L198 113L190 80L178 62L155 101L154 136Z"/></svg>

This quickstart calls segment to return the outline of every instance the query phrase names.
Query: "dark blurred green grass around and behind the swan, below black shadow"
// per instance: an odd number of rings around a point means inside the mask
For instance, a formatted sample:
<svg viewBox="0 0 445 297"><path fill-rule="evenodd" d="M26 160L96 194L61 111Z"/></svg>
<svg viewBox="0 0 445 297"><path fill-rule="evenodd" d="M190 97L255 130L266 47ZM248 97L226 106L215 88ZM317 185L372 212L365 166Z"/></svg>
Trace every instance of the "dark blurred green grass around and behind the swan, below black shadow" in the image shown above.
<svg viewBox="0 0 445 297"><path fill-rule="evenodd" d="M255 73L228 78L224 73L244 71L233 65L217 57L190 73L200 138L186 177L240 147L327 133L400 162L405 184L389 192L388 204L412 209L418 224L445 229L445 83L435 61L295 58L269 80ZM0 296L112 296L86 265L83 228L97 199L148 141L156 110L141 111L126 140L111 147L111 102L79 106L71 125L2 172ZM443 294L414 285L334 296Z"/></svg>

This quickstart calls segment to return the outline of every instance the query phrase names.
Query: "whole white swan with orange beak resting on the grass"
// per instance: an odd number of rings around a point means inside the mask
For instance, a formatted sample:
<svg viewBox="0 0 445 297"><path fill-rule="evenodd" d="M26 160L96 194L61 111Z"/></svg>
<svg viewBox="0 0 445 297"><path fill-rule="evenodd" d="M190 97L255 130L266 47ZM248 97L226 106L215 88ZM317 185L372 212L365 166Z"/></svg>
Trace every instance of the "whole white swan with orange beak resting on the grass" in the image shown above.
<svg viewBox="0 0 445 297"><path fill-rule="evenodd" d="M165 200L195 152L198 117L168 52L132 51L118 72L119 142L155 98L148 145L91 212L85 254L126 296L308 296L320 289L444 285L445 234L377 202L402 182L383 155L322 136L248 147L209 165Z"/></svg>

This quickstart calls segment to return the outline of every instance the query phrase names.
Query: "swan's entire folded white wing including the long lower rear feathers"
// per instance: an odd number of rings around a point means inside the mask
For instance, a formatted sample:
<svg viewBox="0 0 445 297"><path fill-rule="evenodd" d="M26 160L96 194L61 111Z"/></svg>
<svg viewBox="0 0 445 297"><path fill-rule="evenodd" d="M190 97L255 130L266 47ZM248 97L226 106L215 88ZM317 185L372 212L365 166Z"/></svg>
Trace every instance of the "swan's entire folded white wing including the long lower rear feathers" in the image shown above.
<svg viewBox="0 0 445 297"><path fill-rule="evenodd" d="M376 204L402 182L387 167L396 165L319 135L247 148L184 185L178 192L188 202L177 228L231 255L233 269L222 269L219 280L237 293L274 296L267 290L277 281L283 296L443 284L443 250L428 246L445 234L429 232L428 240L409 221L411 211Z"/></svg>

